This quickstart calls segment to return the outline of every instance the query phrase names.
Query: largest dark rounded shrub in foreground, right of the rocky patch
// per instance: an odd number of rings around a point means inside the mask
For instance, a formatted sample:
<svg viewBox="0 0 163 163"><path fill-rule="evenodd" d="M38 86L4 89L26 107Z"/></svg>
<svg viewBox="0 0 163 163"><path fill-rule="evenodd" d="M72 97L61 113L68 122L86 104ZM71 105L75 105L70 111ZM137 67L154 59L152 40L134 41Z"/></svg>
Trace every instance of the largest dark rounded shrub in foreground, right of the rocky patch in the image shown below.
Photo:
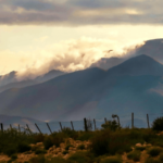
<svg viewBox="0 0 163 163"><path fill-rule="evenodd" d="M90 150L96 155L123 153L130 151L130 145L127 140L125 133L111 131L105 129L97 133L93 138L90 139Z"/></svg>

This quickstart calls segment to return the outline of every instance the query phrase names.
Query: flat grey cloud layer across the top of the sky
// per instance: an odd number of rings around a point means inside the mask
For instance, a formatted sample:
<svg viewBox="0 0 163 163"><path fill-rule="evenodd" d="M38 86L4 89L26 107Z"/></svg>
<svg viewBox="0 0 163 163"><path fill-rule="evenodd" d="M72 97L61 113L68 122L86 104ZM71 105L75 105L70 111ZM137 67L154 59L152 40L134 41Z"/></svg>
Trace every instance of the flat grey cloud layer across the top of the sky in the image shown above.
<svg viewBox="0 0 163 163"><path fill-rule="evenodd" d="M162 24L163 1L0 0L0 24Z"/></svg>

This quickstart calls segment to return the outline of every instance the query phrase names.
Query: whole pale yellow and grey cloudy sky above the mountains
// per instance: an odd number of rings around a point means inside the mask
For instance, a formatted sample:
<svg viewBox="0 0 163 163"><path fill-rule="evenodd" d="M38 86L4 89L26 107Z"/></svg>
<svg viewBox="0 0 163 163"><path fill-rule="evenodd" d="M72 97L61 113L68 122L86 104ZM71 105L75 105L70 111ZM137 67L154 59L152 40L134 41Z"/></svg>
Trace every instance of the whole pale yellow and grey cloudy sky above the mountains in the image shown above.
<svg viewBox="0 0 163 163"><path fill-rule="evenodd" d="M162 7L161 0L0 0L0 75L74 72L123 57L163 38Z"/></svg>

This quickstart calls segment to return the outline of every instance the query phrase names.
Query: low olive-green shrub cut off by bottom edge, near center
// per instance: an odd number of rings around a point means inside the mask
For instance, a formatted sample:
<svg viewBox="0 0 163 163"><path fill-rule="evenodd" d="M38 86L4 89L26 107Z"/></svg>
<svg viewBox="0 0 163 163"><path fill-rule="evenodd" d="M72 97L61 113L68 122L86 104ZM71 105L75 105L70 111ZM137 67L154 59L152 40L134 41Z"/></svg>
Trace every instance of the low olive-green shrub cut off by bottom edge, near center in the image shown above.
<svg viewBox="0 0 163 163"><path fill-rule="evenodd" d="M78 151L67 159L68 163L93 163L93 155L89 152Z"/></svg>

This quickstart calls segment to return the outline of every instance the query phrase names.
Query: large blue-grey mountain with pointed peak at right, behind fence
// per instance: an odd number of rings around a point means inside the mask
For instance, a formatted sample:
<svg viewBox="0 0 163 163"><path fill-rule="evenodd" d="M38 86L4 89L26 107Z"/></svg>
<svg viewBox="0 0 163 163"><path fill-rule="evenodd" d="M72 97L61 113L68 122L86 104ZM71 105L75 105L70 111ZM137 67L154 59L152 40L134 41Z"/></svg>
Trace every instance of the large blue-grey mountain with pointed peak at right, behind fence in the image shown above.
<svg viewBox="0 0 163 163"><path fill-rule="evenodd" d="M121 117L131 112L146 118L147 113L162 112L162 64L142 54L109 71L93 67L65 74L1 92L0 112L41 121L100 118L114 113Z"/></svg>

